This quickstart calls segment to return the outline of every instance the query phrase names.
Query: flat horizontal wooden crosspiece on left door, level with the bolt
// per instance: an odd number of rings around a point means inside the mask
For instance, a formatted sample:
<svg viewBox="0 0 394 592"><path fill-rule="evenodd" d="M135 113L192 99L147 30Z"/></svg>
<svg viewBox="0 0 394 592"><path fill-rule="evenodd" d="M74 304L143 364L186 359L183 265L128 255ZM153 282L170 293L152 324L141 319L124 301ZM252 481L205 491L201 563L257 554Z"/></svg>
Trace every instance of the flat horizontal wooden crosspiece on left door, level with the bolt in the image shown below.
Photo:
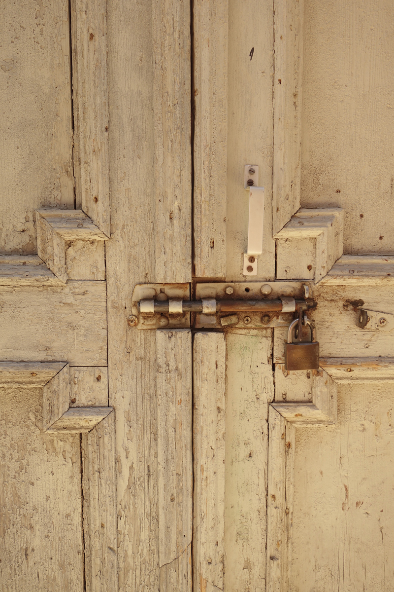
<svg viewBox="0 0 394 592"><path fill-rule="evenodd" d="M63 288L3 286L0 303L2 361L106 365L105 282L69 281Z"/></svg>

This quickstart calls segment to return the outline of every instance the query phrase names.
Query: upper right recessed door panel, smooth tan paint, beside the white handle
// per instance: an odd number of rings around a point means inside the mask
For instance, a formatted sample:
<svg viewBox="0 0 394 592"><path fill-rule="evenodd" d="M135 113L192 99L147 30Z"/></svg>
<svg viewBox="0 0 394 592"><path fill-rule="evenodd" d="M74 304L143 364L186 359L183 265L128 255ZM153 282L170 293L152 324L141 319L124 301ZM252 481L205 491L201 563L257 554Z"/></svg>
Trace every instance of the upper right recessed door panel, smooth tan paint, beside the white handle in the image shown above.
<svg viewBox="0 0 394 592"><path fill-rule="evenodd" d="M301 205L343 207L344 253L394 254L388 0L304 1Z"/></svg>

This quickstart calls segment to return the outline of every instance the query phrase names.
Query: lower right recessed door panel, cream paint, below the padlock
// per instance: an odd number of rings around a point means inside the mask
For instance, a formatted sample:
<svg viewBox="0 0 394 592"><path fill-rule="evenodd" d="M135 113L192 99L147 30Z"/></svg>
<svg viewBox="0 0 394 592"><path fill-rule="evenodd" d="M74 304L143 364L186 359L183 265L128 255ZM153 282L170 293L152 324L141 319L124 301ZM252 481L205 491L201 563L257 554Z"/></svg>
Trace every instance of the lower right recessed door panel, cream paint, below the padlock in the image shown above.
<svg viewBox="0 0 394 592"><path fill-rule="evenodd" d="M291 587L389 590L393 387L341 385L338 424L296 430ZM291 589L291 588L290 588Z"/></svg>

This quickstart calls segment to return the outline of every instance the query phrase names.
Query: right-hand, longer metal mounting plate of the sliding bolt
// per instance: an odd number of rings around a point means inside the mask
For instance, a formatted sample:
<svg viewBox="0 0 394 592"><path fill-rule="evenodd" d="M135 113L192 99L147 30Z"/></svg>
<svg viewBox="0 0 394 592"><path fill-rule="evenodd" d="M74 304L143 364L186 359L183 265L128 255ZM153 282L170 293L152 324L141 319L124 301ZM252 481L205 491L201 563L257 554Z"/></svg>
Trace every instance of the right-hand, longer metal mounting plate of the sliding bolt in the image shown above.
<svg viewBox="0 0 394 592"><path fill-rule="evenodd" d="M216 300L278 300L279 298L292 297L302 299L305 297L304 286L309 288L308 297L312 297L312 284L310 282L214 282L211 284L194 285L196 300L203 298L216 298ZM262 288L269 294L263 294ZM226 290L232 293L228 294ZM288 327L294 318L294 313L282 312L253 312L238 313L196 313L193 327L195 329L223 329L226 328L261 328L261 327Z"/></svg>

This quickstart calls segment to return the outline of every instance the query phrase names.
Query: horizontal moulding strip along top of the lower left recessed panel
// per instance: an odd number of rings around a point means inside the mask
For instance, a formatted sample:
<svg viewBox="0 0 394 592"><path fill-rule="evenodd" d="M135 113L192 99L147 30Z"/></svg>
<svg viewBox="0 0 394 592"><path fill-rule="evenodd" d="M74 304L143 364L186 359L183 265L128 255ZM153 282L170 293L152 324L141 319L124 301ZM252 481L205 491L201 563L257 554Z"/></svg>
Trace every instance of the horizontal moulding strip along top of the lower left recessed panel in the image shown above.
<svg viewBox="0 0 394 592"><path fill-rule="evenodd" d="M44 387L66 362L0 362L0 387Z"/></svg>

